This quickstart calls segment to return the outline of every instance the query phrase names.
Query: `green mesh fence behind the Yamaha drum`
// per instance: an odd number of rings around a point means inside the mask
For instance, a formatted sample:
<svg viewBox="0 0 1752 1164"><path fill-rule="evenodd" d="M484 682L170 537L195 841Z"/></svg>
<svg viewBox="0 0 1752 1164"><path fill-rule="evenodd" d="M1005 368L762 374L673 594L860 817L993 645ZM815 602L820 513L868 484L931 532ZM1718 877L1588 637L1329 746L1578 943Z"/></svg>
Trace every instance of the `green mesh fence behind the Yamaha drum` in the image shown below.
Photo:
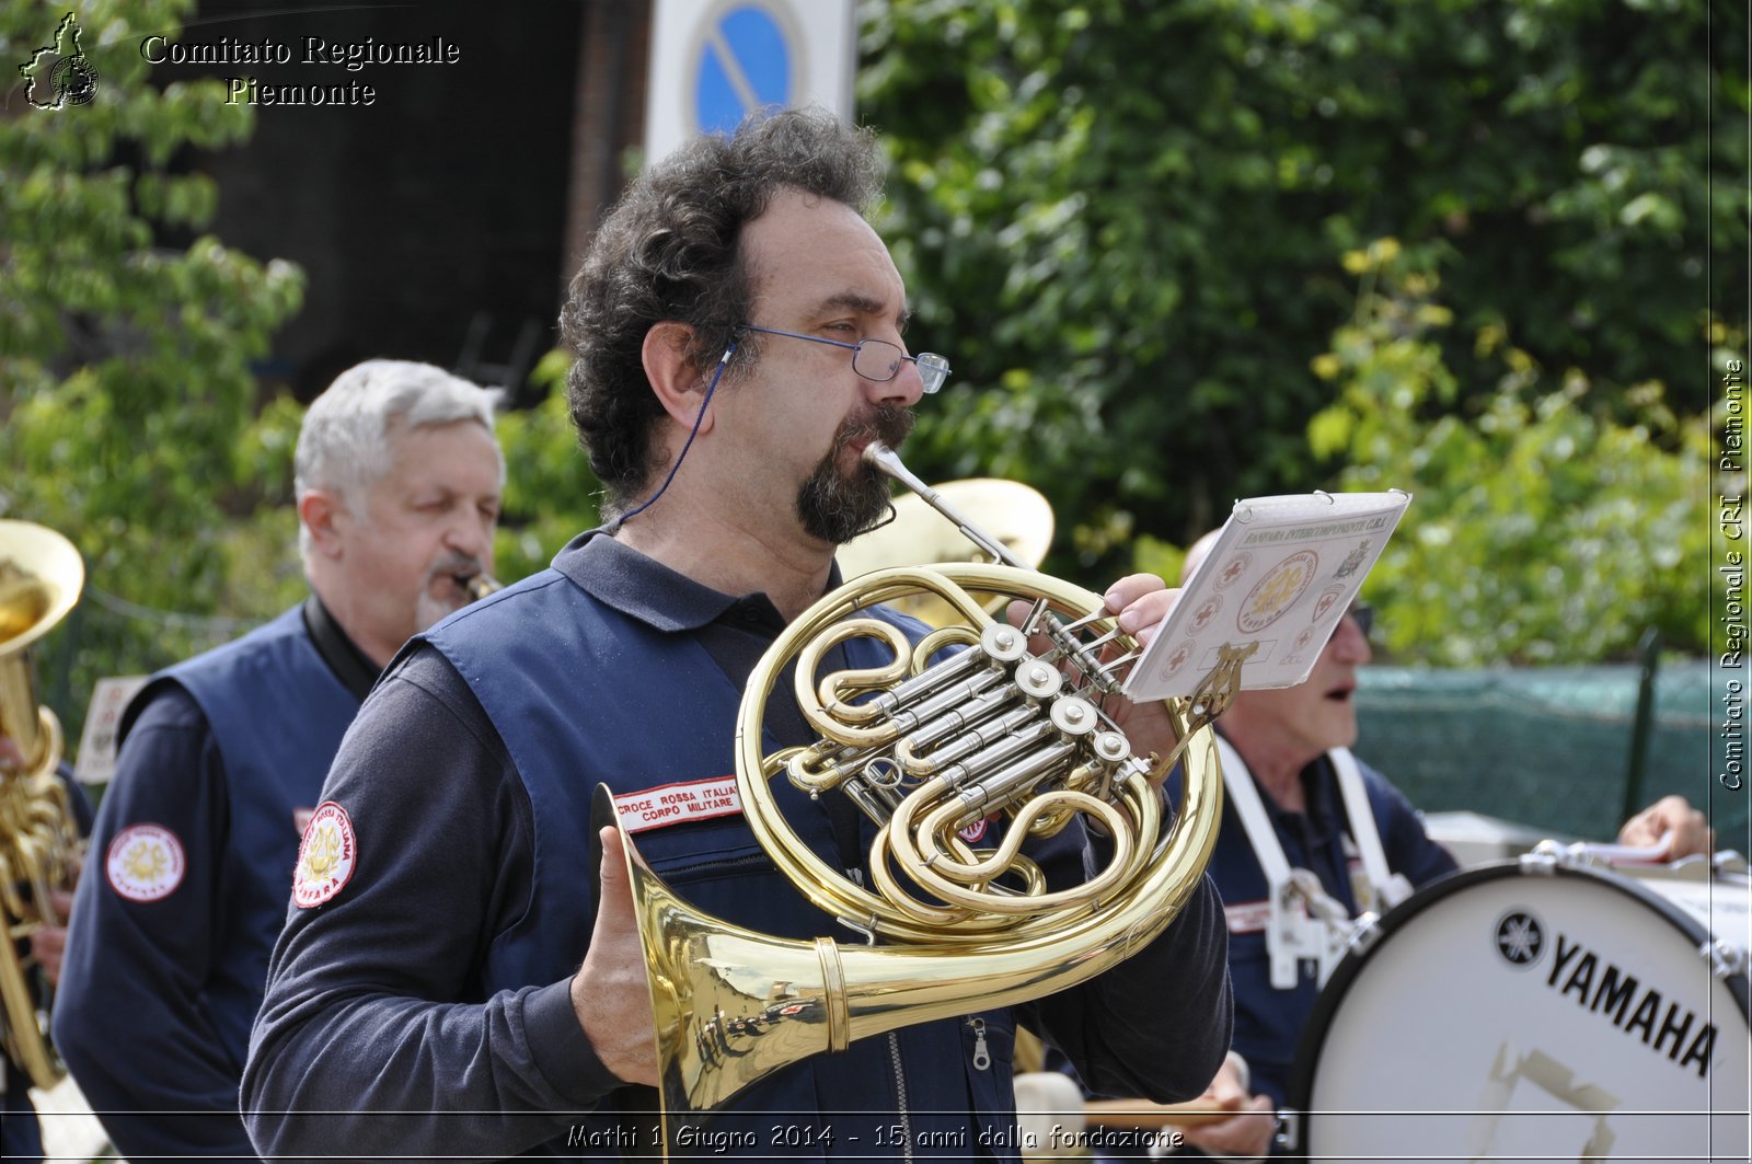
<svg viewBox="0 0 1752 1164"><path fill-rule="evenodd" d="M1558 834L1617 834L1631 771L1636 666L1360 671L1356 754L1424 812L1472 810ZM1715 780L1720 724L1708 663L1664 664L1642 808L1678 792L1710 813L1722 847L1745 850L1748 799Z"/></svg>

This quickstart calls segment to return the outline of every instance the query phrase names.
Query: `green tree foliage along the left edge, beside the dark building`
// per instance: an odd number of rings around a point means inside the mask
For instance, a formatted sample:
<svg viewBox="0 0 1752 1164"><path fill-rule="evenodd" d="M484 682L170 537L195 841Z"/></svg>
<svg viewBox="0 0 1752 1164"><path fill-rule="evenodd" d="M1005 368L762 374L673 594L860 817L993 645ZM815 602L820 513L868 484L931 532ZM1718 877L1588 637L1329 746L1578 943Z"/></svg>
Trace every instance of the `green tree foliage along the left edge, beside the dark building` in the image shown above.
<svg viewBox="0 0 1752 1164"><path fill-rule="evenodd" d="M0 512L86 557L77 650L44 659L68 710L96 675L210 645L298 587L286 519L259 512L291 491L296 408L258 417L251 361L298 310L303 275L198 233L217 193L173 160L254 121L219 81L151 84L142 37L173 37L193 7L81 5L96 98L33 109L14 84L0 117ZM30 60L61 12L0 2L0 60ZM166 230L196 237L170 247ZM77 729L77 710L63 719Z"/></svg>

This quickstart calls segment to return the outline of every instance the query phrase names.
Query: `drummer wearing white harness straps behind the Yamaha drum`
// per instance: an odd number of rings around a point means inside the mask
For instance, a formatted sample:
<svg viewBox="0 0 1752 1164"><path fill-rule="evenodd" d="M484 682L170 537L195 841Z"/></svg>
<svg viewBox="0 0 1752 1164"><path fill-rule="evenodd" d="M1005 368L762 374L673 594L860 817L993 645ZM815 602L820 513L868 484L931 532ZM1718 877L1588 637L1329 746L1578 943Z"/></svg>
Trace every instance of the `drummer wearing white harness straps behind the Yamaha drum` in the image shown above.
<svg viewBox="0 0 1752 1164"><path fill-rule="evenodd" d="M1193 543L1183 580L1191 577L1214 540L1216 531ZM1296 1043L1323 983L1310 959L1281 959L1286 964L1274 975L1267 940L1268 857L1261 859L1261 850L1275 843L1291 869L1310 871L1325 898L1312 903L1310 912L1337 908L1342 919L1367 910L1386 912L1412 889L1456 868L1454 857L1424 833L1410 801L1349 754L1356 743L1356 673L1372 657L1372 622L1368 607L1353 605L1307 682L1240 691L1216 724L1228 749L1223 768L1230 794L1209 869L1228 919L1239 1055L1223 1064L1209 1099L1211 1106L1240 1106L1242 1111L1184 1129L1186 1143L1209 1155L1254 1157L1270 1150L1272 1113L1286 1101ZM1249 785L1233 784L1242 773L1251 775L1258 815L1249 813ZM1346 780L1353 778L1361 792L1356 812L1344 792ZM1619 833L1619 843L1626 845L1661 840L1668 841L1666 859L1677 861L1710 852L1715 834L1684 798L1668 796L1631 817Z"/></svg>

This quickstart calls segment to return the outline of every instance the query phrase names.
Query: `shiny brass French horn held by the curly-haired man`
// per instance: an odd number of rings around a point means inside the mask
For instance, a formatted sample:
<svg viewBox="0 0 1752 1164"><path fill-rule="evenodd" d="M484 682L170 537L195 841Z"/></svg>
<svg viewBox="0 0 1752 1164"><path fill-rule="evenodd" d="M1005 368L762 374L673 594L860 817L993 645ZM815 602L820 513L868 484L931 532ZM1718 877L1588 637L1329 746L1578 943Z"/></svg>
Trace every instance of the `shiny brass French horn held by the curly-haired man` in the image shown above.
<svg viewBox="0 0 1752 1164"><path fill-rule="evenodd" d="M1144 759L1102 706L1137 645L1104 614L1100 596L1018 564L888 449L871 445L865 461L909 484L1004 564L860 577L788 626L743 692L736 784L746 820L773 862L848 936L860 936L858 945L771 938L704 915L627 840L666 1143L678 1118L718 1108L804 1057L1102 973L1167 927L1216 840L1221 777L1204 722L1184 701L1170 701L1181 743L1169 757ZM957 624L915 647L890 622L862 617L867 607L916 594L953 610ZM1030 603L1020 628L986 614L993 596ZM892 664L829 673L815 685L809 677L825 652L858 636L887 643ZM964 650L932 661L944 647ZM762 756L764 708L792 661L797 701L820 738ZM1165 827L1153 780L1183 752L1183 810ZM781 775L811 796L851 796L876 820L874 891L848 882L795 836L769 789ZM596 810L599 820L615 820L606 787ZM957 834L995 812L1011 820L995 852ZM1048 891L1020 845L1076 815L1113 840L1113 861L1079 887ZM874 945L878 938L888 945Z"/></svg>

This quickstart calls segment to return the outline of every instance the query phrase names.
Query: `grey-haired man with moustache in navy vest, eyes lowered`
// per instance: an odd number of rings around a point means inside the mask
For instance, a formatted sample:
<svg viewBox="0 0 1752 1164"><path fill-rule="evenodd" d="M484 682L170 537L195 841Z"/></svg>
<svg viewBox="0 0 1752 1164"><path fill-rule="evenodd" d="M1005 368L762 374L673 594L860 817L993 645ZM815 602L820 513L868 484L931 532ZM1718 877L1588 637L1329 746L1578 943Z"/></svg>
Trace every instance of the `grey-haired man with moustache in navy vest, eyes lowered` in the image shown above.
<svg viewBox="0 0 1752 1164"><path fill-rule="evenodd" d="M310 596L123 713L54 1010L123 1155L254 1155L237 1090L300 833L378 670L492 566L496 398L431 365L343 372L294 454Z"/></svg>

